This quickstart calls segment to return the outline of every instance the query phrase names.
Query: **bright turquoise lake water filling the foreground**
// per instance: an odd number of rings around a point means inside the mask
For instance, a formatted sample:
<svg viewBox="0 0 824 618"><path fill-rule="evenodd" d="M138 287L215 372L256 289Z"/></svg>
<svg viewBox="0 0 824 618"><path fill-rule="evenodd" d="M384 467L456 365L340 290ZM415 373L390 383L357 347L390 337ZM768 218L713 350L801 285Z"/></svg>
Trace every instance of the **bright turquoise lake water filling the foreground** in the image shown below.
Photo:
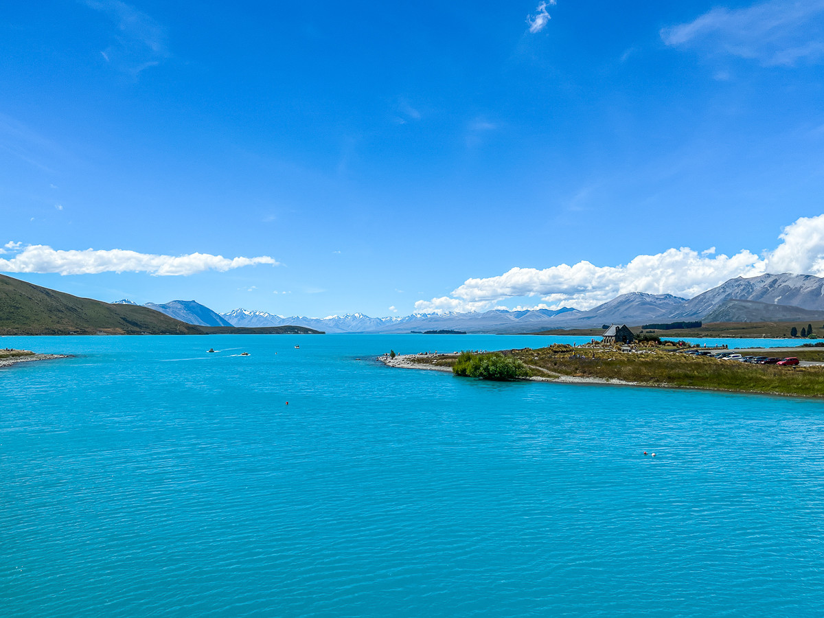
<svg viewBox="0 0 824 618"><path fill-rule="evenodd" d="M822 616L824 402L374 362L551 340L0 338L0 615Z"/></svg>

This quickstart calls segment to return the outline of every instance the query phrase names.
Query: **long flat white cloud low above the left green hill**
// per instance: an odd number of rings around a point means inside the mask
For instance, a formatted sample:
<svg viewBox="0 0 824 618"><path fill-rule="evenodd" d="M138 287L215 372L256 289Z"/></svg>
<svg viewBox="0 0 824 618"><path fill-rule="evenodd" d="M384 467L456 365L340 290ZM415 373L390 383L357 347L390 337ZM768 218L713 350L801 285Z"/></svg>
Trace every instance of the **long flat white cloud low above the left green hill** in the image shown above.
<svg viewBox="0 0 824 618"><path fill-rule="evenodd" d="M7 249L20 250L20 243L8 243ZM152 255L123 249L56 250L46 245L29 245L11 259L0 259L0 271L7 273L149 273L188 275L205 270L226 271L256 264L279 265L268 255L224 258L222 255Z"/></svg>

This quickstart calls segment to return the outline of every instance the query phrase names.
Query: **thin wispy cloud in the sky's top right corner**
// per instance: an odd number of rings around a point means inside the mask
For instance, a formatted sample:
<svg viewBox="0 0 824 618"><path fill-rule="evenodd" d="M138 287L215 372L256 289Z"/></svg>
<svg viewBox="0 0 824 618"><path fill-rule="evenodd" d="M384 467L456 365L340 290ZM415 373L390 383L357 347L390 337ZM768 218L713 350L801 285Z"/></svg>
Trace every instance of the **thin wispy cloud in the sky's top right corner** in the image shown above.
<svg viewBox="0 0 824 618"><path fill-rule="evenodd" d="M824 58L824 0L769 0L746 8L714 8L694 21L661 30L667 45L791 66Z"/></svg>

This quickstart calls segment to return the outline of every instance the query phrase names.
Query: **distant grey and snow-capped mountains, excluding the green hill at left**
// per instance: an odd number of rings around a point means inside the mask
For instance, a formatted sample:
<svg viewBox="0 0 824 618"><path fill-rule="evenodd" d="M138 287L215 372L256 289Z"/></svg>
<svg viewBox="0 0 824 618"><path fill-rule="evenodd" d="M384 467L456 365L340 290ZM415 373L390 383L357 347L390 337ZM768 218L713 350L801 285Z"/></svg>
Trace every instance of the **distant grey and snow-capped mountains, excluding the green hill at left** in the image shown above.
<svg viewBox="0 0 824 618"><path fill-rule="evenodd" d="M824 320L824 279L810 274L787 273L763 274L749 279L737 277L690 299L672 294L632 292L621 294L588 311L564 307L555 311L494 309L469 313L415 313L403 317L370 317L354 313L311 318L235 309L220 314L220 317L235 326L289 324L328 333L408 333L410 330L523 333L601 327L611 323L818 321Z"/></svg>

